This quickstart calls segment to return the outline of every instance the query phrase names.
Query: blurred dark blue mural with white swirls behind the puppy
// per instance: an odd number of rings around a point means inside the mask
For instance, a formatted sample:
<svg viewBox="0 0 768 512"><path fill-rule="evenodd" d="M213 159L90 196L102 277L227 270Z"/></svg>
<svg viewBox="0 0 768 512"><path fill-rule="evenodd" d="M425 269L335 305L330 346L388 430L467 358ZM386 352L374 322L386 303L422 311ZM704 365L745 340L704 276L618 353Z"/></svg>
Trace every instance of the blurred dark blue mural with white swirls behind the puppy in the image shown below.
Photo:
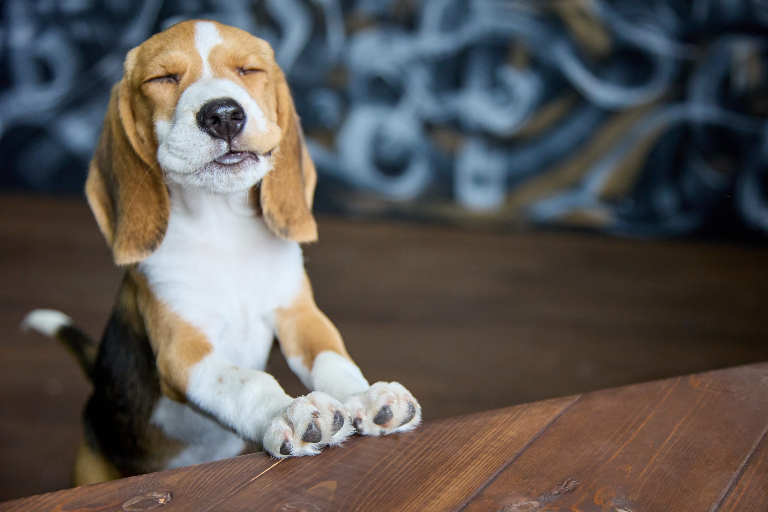
<svg viewBox="0 0 768 512"><path fill-rule="evenodd" d="M766 0L5 0L0 184L81 190L126 51L187 18L272 43L321 207L768 231Z"/></svg>

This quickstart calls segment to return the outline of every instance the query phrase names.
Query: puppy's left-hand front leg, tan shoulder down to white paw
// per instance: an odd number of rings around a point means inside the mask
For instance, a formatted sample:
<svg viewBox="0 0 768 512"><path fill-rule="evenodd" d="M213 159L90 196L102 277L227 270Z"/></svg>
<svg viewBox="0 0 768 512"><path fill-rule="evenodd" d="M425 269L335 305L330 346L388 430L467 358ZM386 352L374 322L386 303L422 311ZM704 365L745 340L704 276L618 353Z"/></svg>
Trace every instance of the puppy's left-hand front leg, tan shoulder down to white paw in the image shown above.
<svg viewBox="0 0 768 512"><path fill-rule="evenodd" d="M143 309L169 398L189 401L274 457L317 454L353 433L349 410L330 395L292 398L272 375L224 358L199 329L161 304Z"/></svg>

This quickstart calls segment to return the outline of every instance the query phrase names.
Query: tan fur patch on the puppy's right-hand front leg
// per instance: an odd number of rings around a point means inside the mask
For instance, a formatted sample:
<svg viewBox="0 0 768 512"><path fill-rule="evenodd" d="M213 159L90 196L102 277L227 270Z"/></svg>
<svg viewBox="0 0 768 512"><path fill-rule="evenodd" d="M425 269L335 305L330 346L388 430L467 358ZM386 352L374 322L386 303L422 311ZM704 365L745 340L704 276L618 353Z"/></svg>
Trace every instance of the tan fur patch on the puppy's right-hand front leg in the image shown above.
<svg viewBox="0 0 768 512"><path fill-rule="evenodd" d="M312 370L315 357L330 350L352 358L346 352L339 329L320 311L315 303L310 278L304 276L299 296L290 308L275 311L275 326L280 348L286 357L303 358L306 368Z"/></svg>

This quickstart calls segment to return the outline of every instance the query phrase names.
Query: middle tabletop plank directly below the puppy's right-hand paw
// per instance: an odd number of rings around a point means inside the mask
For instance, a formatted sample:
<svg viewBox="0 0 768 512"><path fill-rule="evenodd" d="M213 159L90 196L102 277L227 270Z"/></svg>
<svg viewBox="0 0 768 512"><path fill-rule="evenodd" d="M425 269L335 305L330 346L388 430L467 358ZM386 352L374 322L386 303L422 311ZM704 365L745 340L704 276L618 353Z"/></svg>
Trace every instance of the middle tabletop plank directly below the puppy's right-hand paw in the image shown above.
<svg viewBox="0 0 768 512"><path fill-rule="evenodd" d="M288 459L214 510L448 510L460 507L575 398L434 421Z"/></svg>

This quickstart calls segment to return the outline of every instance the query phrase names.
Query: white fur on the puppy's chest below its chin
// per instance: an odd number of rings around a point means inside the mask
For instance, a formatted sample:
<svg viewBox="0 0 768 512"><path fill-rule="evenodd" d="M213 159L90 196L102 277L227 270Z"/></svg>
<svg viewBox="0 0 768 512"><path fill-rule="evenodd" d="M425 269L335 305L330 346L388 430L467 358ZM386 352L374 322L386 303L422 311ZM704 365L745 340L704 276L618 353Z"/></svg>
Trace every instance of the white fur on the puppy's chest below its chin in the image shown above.
<svg viewBox="0 0 768 512"><path fill-rule="evenodd" d="M273 311L289 306L303 279L298 243L275 236L247 193L170 187L161 246L139 267L152 291L241 367L263 369Z"/></svg>

